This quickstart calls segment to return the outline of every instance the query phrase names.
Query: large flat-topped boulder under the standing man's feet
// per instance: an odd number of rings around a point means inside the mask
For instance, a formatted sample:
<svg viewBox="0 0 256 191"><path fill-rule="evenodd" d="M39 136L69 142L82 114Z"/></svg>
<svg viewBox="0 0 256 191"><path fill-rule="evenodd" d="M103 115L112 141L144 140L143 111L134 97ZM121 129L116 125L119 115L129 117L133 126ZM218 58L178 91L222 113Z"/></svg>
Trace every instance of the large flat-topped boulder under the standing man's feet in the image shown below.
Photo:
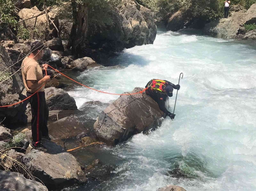
<svg viewBox="0 0 256 191"><path fill-rule="evenodd" d="M83 184L87 181L72 154L67 153L61 146L51 141L43 141L43 144L48 150L47 153L28 148L27 154L11 150L8 152L8 156L23 163L30 169L32 175L41 180L49 190ZM20 167L18 170L21 170Z"/></svg>

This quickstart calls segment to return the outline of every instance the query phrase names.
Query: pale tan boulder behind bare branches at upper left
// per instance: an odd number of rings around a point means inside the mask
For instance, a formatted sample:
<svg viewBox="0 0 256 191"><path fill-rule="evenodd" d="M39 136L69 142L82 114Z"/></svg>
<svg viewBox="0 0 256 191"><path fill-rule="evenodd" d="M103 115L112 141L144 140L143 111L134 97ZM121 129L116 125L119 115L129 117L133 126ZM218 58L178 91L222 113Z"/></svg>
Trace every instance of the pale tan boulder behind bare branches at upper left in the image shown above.
<svg viewBox="0 0 256 191"><path fill-rule="evenodd" d="M39 11L36 7L33 7L31 9L28 8L24 8L22 10L20 10L20 12L18 13L18 15L20 16L20 19L28 19L31 18L33 16L36 16L40 13L41 11ZM59 26L59 20L58 20L58 16L56 13L48 13L49 18L54 22L54 24L58 27ZM35 25L35 21L36 21L36 29L34 30L34 25ZM46 38L47 37L47 18L46 15L40 15L36 18L32 18L32 19L28 19L25 22L26 28L27 30L29 30L30 32L30 37L31 38L36 38L36 39L41 39L41 38ZM21 22L22 23L22 22ZM58 37L58 32L55 29L54 25L52 24L51 21L49 21L48 25L50 26L50 30L53 30L52 35L53 37Z"/></svg>

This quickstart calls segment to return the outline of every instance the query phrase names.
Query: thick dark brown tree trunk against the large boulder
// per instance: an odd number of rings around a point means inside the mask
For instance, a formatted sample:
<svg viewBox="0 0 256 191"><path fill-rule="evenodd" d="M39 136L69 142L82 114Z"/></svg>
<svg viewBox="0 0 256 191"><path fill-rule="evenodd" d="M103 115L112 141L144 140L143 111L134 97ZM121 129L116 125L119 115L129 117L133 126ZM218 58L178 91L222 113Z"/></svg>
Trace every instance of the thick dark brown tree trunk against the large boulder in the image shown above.
<svg viewBox="0 0 256 191"><path fill-rule="evenodd" d="M87 22L87 14L88 14L88 5L86 3L77 4L75 0L71 3L72 12L73 12L73 25L71 28L70 39L67 44L67 48L70 49L70 45L72 46L72 54L76 57L79 57L79 52L84 44L87 30L88 30L88 22Z"/></svg>

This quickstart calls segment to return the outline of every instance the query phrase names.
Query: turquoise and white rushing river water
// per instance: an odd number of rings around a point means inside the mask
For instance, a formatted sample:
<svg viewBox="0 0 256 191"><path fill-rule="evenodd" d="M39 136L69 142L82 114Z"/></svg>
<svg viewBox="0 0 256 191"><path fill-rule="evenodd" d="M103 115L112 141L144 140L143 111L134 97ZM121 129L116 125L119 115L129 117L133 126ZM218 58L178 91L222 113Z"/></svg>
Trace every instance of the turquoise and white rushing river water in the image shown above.
<svg viewBox="0 0 256 191"><path fill-rule="evenodd" d="M87 70L78 80L111 93L145 87L151 79L178 83L173 121L149 135L138 134L98 156L114 176L74 191L155 191L167 184L187 191L256 190L256 45L245 41L158 29L154 44L125 49L112 67ZM76 87L69 94L111 103L118 96ZM176 95L176 91L174 91ZM175 96L170 99L173 108ZM97 106L96 106L97 107ZM102 110L92 112L93 119ZM135 111L136 112L136 111ZM171 178L179 166L189 178Z"/></svg>

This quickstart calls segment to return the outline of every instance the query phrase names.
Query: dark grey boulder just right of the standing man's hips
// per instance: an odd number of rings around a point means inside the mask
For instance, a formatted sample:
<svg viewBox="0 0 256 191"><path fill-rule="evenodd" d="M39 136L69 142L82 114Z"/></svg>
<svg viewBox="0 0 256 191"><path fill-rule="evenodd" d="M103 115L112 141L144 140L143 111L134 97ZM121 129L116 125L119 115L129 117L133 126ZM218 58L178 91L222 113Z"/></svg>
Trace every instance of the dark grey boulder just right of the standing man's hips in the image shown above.
<svg viewBox="0 0 256 191"><path fill-rule="evenodd" d="M49 110L75 110L75 99L62 89L45 88L45 99Z"/></svg>

